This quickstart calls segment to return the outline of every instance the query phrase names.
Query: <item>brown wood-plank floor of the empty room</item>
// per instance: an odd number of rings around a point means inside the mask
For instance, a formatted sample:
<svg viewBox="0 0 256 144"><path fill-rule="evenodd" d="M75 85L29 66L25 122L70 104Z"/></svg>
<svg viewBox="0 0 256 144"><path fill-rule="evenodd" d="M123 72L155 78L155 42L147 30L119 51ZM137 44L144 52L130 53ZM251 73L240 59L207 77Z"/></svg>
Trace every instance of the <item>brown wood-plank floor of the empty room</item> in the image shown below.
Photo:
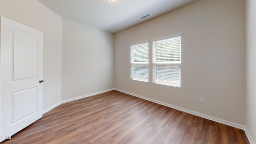
<svg viewBox="0 0 256 144"><path fill-rule="evenodd" d="M249 144L243 130L118 91L61 104L3 144Z"/></svg>

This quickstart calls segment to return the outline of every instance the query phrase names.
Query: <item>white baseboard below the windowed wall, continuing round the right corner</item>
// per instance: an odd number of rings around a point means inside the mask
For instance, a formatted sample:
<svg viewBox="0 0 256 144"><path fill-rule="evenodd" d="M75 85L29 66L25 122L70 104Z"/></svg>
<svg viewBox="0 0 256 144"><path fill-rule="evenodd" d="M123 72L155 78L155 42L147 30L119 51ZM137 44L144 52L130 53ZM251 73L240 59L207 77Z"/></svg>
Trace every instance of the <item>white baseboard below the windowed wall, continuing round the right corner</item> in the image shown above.
<svg viewBox="0 0 256 144"><path fill-rule="evenodd" d="M212 116L208 116L208 115L206 115L206 114L201 114L201 113L199 113L199 112L194 112L194 111L192 111L192 110L187 110L187 109L184 109L184 108L180 108L180 107L178 107L178 106L173 106L173 105L171 105L171 104L167 104L167 103L164 103L164 102L160 102L160 101L157 101L157 100L153 100L153 99L151 99L151 98L146 98L146 97L140 96L140 95L138 95L138 94L133 94L133 93L131 93L131 92L126 92L126 91L120 90L120 89L118 89L118 88L114 88L114 89L117 90L117 91L126 93L126 94L130 94L130 95L132 95L132 96L136 96L136 97L138 97L138 98L142 98L142 99L144 99L144 100L148 100L148 101L150 101L150 102L154 102L154 103L157 103L157 104L161 104L161 105L163 105L163 106L167 106L167 107L169 107L169 108L174 108L174 109L176 109L176 110L180 110L180 111L182 111L182 112L186 112L186 113L189 113L189 114L193 114L193 115L195 115L195 116L199 116L199 117L202 117L202 118L206 118L206 119L212 120L212 121L214 121L214 122L219 122L219 123L221 123L221 124L226 124L226 125L228 125L228 126L232 126L232 127L235 127L235 128L239 128L239 129L241 129L241 130L244 130L244 132L245 132L245 134L246 134L246 136L247 136L247 138L248 138L250 144L255 144L255 143L253 142L252 137L250 136L250 134L249 134L249 132L248 132L246 126L244 126L244 125L236 124L236 123L234 123L234 122L229 122L229 121L227 121L227 120L222 120L222 119L220 119L220 118L215 118L215 117L212 117Z"/></svg>

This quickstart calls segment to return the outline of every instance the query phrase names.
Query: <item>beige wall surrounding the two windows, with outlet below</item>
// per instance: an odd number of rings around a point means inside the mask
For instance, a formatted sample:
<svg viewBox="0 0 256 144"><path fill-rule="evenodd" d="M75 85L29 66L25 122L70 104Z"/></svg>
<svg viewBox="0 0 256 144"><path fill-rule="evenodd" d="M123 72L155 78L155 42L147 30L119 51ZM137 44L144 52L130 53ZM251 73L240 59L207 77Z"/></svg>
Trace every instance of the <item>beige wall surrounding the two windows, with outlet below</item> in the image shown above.
<svg viewBox="0 0 256 144"><path fill-rule="evenodd" d="M115 87L245 125L243 0L200 0L115 34ZM182 34L182 88L130 80L130 45ZM123 81L123 84L121 84ZM199 102L204 97L205 103Z"/></svg>

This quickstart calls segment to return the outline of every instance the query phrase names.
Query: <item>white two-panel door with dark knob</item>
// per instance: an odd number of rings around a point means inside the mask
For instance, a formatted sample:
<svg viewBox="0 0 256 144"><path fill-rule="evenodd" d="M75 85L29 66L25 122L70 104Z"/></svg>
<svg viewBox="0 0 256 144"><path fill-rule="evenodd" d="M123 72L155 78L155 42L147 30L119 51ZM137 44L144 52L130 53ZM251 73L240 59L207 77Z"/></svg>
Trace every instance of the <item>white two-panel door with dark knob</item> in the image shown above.
<svg viewBox="0 0 256 144"><path fill-rule="evenodd" d="M42 117L42 72L43 33L1 16L0 142Z"/></svg>

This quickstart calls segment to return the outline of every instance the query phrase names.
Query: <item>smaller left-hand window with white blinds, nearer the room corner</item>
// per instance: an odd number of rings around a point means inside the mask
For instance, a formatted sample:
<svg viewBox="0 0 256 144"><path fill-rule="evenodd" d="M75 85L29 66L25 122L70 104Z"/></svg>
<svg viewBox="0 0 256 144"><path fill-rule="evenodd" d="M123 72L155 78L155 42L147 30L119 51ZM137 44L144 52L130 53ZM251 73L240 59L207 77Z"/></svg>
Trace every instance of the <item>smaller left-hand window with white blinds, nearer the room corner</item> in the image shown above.
<svg viewBox="0 0 256 144"><path fill-rule="evenodd" d="M131 46L131 80L148 82L148 42Z"/></svg>

